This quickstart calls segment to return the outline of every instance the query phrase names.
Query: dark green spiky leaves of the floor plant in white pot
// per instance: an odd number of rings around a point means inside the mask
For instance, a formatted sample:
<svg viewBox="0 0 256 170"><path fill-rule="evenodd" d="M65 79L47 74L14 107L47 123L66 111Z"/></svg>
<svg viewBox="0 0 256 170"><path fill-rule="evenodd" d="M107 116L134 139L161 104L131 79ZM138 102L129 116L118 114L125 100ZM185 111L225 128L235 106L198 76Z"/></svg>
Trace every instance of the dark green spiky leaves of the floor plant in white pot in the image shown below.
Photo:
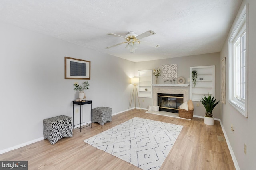
<svg viewBox="0 0 256 170"><path fill-rule="evenodd" d="M212 110L214 109L214 107L220 102L215 102L216 99L214 99L214 97L212 97L210 94L208 94L208 96L204 96L202 97L202 99L200 100L200 102L204 105L205 107L205 116L206 117L213 117L213 113Z"/></svg>

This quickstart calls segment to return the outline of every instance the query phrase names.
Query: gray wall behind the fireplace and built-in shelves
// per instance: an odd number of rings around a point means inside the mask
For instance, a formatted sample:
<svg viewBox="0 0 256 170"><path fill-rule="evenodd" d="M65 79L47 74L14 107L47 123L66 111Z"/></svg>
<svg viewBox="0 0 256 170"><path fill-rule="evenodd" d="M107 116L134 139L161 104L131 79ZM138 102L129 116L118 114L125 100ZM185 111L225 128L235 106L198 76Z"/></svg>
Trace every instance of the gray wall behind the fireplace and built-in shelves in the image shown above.
<svg viewBox="0 0 256 170"><path fill-rule="evenodd" d="M170 59L162 59L155 61L137 62L135 63L135 70L153 70L160 67L162 70L163 65L177 64L177 78L182 76L185 78L185 84L189 84L187 79L190 76L190 67L194 66L210 66L215 65L215 98L220 100L220 53L210 53L203 55L194 55L186 57L176 57ZM136 73L135 73L136 74ZM164 79L161 76L158 78L159 84L164 84ZM156 76L153 76L153 84L156 83ZM173 83L173 82L172 82ZM175 82L177 84L177 82ZM188 96L189 96L189 87ZM144 99L144 102L142 100ZM142 108L148 108L148 105L153 105L153 98L139 98ZM196 104L199 103L199 107ZM201 102L193 102L194 115L204 116L205 109ZM138 105L136 105L138 106ZM220 106L219 104L213 110L214 117L220 118Z"/></svg>

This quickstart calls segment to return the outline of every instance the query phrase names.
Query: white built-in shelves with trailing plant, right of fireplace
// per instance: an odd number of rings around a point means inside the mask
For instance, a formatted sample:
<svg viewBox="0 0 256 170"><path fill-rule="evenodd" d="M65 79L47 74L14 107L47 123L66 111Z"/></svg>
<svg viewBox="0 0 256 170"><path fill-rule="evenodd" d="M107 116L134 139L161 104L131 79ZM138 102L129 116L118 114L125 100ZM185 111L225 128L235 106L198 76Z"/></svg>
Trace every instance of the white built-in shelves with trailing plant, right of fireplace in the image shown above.
<svg viewBox="0 0 256 170"><path fill-rule="evenodd" d="M196 86L192 82L192 71L197 72ZM201 78L201 80L200 80ZM205 95L214 96L215 89L215 66L198 66L190 67L190 99L193 101L200 101Z"/></svg>

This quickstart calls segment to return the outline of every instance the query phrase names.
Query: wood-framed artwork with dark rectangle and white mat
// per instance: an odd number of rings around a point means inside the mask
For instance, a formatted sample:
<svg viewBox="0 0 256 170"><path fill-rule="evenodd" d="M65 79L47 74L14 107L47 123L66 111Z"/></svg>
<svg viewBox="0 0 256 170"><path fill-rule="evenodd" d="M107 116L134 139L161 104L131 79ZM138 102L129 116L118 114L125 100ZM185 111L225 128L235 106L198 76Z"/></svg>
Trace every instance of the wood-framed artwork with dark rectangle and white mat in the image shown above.
<svg viewBox="0 0 256 170"><path fill-rule="evenodd" d="M91 79L91 62L65 57L65 79Z"/></svg>

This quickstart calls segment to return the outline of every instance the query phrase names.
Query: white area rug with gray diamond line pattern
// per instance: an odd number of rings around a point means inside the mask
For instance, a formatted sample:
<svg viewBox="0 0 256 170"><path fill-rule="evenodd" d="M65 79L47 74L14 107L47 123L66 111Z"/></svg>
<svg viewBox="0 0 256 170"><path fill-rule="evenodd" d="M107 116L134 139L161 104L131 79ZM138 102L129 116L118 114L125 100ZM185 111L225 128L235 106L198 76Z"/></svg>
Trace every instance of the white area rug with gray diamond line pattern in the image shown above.
<svg viewBox="0 0 256 170"><path fill-rule="evenodd" d="M182 127L134 117L84 142L143 170L158 170Z"/></svg>

